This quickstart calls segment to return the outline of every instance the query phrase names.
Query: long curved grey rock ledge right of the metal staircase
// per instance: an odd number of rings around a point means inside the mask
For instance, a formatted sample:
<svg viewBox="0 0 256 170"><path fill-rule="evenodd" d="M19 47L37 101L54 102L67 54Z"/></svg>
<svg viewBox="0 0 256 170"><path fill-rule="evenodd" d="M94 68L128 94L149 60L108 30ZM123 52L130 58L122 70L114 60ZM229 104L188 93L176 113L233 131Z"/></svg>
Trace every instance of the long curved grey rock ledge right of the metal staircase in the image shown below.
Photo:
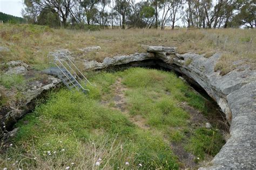
<svg viewBox="0 0 256 170"><path fill-rule="evenodd" d="M231 138L212 160L210 169L255 168L256 162L256 71L250 66L221 76L214 72L220 58L216 53L210 58L193 53L177 54L173 47L144 46L149 53L105 58L103 62L85 61L85 69L103 69L148 59L161 60L163 67L175 69L197 82L225 112L231 123Z"/></svg>

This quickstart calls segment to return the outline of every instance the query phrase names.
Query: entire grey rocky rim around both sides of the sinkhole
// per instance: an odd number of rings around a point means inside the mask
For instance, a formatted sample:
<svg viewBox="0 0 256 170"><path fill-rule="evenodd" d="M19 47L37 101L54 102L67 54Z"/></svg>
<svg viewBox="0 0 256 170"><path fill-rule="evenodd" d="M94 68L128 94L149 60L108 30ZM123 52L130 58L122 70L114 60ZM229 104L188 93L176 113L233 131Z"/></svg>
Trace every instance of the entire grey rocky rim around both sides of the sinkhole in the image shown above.
<svg viewBox="0 0 256 170"><path fill-rule="evenodd" d="M105 58L103 62L83 61L85 70L102 70L126 66L160 66L180 73L185 79L203 88L216 101L230 122L230 139L211 161L212 168L255 168L256 160L256 70L251 66L239 65L232 72L222 76L214 71L220 53L209 58L204 54L176 53L174 47L143 46L147 53L135 53ZM100 47L85 48L84 52L100 50ZM72 55L68 49L57 52ZM73 58L71 56L73 60ZM4 70L5 74L23 74L33 76L37 72L22 61L11 61ZM235 63L234 63L235 65ZM41 73L38 73L41 74ZM23 101L10 103L10 107L2 107L0 118L6 126L11 127L18 119L31 111L35 99L45 91L55 88L59 79L52 76L44 80L31 81L22 89ZM3 87L1 87L3 88ZM15 92L12 92L15 93ZM14 94L8 94L7 96ZM146 128L146 127L145 127Z"/></svg>

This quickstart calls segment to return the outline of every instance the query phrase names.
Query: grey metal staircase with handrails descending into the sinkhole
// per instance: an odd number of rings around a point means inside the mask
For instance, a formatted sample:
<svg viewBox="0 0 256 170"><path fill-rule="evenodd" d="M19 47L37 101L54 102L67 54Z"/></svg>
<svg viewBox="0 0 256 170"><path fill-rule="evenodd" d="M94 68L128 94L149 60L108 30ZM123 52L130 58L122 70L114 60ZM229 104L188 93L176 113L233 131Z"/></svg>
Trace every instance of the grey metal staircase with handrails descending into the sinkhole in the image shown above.
<svg viewBox="0 0 256 170"><path fill-rule="evenodd" d="M52 58L52 61L49 63L53 65L53 67L44 70L44 73L57 75L68 89L76 89L78 91L82 90L83 93L86 93L87 91L90 91L89 89L84 88L87 83L91 86L96 86L86 79L66 54L50 52L47 56L48 58ZM80 76L78 76L78 74Z"/></svg>

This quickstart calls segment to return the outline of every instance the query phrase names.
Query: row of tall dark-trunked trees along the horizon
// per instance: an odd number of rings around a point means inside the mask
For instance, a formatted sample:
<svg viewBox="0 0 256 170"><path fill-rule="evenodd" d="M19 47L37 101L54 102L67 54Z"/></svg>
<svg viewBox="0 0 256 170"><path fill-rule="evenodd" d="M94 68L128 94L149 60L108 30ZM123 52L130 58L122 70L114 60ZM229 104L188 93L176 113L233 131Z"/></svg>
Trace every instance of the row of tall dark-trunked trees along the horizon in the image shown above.
<svg viewBox="0 0 256 170"><path fill-rule="evenodd" d="M254 28L255 0L24 0L24 18L51 27Z"/></svg>

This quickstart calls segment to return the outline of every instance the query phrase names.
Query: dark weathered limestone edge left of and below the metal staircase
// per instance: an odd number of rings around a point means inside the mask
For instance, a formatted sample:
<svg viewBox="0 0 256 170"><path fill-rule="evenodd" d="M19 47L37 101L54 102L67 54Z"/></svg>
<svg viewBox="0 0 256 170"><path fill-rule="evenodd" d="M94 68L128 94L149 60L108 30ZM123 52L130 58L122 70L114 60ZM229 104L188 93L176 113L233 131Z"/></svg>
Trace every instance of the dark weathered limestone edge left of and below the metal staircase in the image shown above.
<svg viewBox="0 0 256 170"><path fill-rule="evenodd" d="M34 102L37 97L56 87L58 83L60 80L50 75L42 80L29 81L26 86L22 87L20 100L15 97L18 93L16 89L5 89L0 86L0 90L4 90L4 97L8 98L8 103L0 107L0 126L10 129L18 119L35 108Z"/></svg>

